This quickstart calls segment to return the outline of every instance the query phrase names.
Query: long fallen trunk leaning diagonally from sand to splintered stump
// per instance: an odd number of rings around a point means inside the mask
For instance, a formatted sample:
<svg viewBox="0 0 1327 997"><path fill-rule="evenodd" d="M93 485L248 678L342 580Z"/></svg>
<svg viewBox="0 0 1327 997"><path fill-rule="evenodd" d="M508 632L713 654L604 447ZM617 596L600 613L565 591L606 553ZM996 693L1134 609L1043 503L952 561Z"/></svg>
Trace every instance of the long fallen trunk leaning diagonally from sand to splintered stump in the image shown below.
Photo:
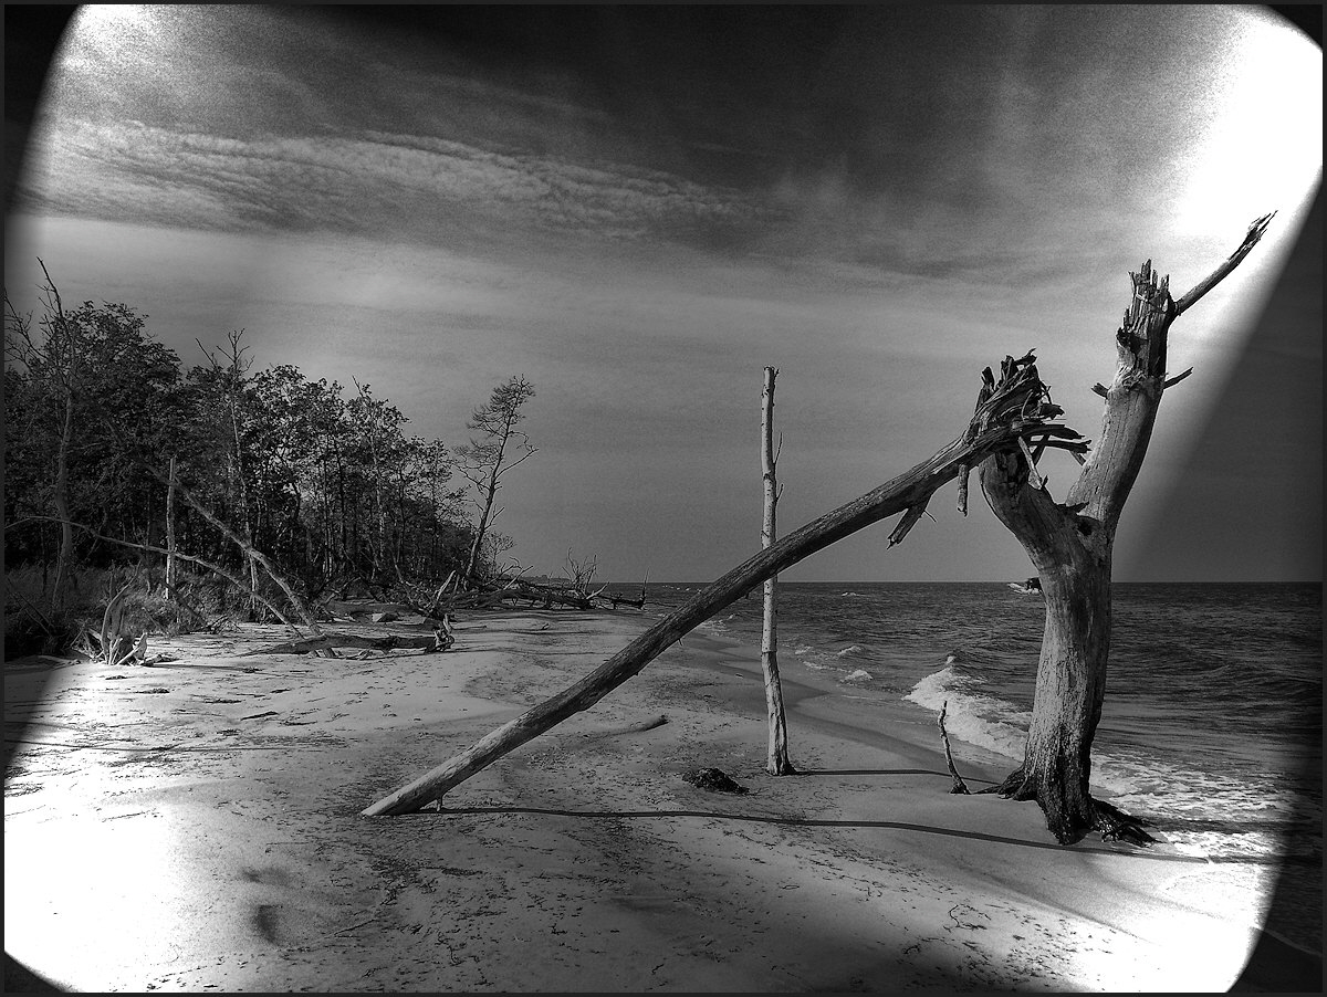
<svg viewBox="0 0 1327 997"><path fill-rule="evenodd" d="M681 636L766 578L873 522L925 505L938 488L958 477L961 471L981 464L993 453L1016 449L1020 439L1034 438L1051 447L1087 449L1087 443L1076 432L1050 422L1062 414L1062 408L1050 403L1050 392L1036 377L1035 367L1030 371L1024 369L1020 377L1006 379L998 388L983 386L978 395L977 414L957 440L898 477L764 548L698 591L580 681L503 724L414 782L372 803L364 814L409 814L441 799L447 790L525 741L567 717L589 709Z"/></svg>

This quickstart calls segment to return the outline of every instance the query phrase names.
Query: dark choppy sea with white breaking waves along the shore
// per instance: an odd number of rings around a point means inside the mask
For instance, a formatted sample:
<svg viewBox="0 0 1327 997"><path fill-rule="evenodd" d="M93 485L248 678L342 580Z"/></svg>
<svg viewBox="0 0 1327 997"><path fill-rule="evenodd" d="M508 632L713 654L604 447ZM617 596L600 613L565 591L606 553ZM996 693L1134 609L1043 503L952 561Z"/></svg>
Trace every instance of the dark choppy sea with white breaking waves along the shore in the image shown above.
<svg viewBox="0 0 1327 997"><path fill-rule="evenodd" d="M703 582L650 582L664 616ZM640 594L640 585L609 591ZM1296 867L1322 888L1323 587L1115 583L1092 792L1212 862ZM759 586L701 630L759 647ZM1005 582L784 582L779 664L904 704L970 757L1023 758L1046 609ZM796 667L796 666L794 666ZM1320 951L1320 944L1318 945Z"/></svg>

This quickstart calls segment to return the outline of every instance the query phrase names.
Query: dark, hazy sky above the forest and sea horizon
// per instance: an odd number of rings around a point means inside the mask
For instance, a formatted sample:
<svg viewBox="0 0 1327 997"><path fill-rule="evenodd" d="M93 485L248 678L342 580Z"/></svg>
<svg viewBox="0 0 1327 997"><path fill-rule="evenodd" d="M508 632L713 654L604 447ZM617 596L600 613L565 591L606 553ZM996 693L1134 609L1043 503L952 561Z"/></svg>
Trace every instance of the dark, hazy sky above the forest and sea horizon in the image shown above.
<svg viewBox="0 0 1327 997"><path fill-rule="evenodd" d="M186 365L244 329L453 445L524 375L510 554L707 581L759 549L766 366L787 533L959 435L1006 354L1095 438L1129 272L1178 297L1277 211L1172 329L1115 577L1320 579L1322 93L1259 7L84 7L5 286L36 309L40 256ZM782 577L1031 573L954 500Z"/></svg>

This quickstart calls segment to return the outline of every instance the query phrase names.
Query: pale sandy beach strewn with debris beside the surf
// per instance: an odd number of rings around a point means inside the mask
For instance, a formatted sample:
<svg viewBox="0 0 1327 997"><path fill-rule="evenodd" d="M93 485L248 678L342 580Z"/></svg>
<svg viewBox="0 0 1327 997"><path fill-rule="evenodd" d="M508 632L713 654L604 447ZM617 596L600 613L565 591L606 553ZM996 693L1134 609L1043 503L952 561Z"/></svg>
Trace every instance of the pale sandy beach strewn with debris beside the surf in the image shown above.
<svg viewBox="0 0 1327 997"><path fill-rule="evenodd" d="M337 659L239 626L153 639L174 660L147 668L7 663L7 953L76 990L1320 990L1320 957L1259 931L1266 870L1060 847L1032 803L949 794L905 704L786 670L800 774L767 776L759 656L703 632L441 811L360 815L648 622L475 613L446 654ZM974 789L1005 774L955 750ZM748 792L683 780L702 766Z"/></svg>

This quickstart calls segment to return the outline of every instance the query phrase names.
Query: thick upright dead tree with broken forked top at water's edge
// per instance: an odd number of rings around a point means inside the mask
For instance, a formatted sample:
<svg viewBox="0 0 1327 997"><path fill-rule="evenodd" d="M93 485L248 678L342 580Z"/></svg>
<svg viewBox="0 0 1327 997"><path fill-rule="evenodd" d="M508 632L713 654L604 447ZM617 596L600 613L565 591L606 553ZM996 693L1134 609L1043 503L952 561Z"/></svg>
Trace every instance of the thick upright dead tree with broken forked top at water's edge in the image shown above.
<svg viewBox="0 0 1327 997"><path fill-rule="evenodd" d="M1221 282L1257 245L1271 215L1249 227L1239 248L1178 301L1169 278L1160 281L1148 260L1131 273L1133 297L1115 333L1117 367L1105 398L1101 439L1079 471L1063 502L1046 491L1036 469L1040 448L1006 448L979 468L987 502L1027 550L1046 595L1046 632L1036 670L1036 692L1023 764L995 792L1035 799L1047 827L1062 843L1099 830L1105 839L1147 845L1144 823L1093 799L1088 790L1091 748L1105 696L1111 644L1111 556L1124 502L1139 476L1165 388L1190 370L1166 378L1170 323ZM1019 378L1036 378L1031 358L1006 361L1001 379L986 371L994 392ZM981 407L978 407L981 412ZM975 420L975 419L974 419Z"/></svg>

